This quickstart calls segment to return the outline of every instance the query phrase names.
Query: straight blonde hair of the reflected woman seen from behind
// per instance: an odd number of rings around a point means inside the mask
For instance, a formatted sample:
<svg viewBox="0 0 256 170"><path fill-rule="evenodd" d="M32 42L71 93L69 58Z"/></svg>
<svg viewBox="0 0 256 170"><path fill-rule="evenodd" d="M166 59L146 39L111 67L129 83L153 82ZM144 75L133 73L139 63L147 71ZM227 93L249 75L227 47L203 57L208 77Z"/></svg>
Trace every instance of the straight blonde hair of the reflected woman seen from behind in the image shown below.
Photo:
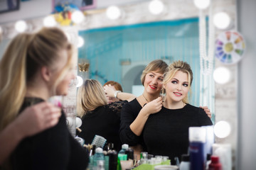
<svg viewBox="0 0 256 170"><path fill-rule="evenodd" d="M105 105L107 105L107 97L102 84L95 79L86 79L78 89L78 116L82 118L82 116L89 111L93 111L95 108Z"/></svg>

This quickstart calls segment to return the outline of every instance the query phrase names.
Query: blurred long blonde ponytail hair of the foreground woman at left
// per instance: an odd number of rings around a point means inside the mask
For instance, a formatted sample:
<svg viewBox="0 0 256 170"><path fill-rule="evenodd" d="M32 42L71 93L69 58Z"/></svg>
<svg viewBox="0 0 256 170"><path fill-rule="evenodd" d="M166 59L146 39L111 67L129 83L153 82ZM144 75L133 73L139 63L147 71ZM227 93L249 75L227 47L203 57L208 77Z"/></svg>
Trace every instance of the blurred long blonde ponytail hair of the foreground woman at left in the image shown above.
<svg viewBox="0 0 256 170"><path fill-rule="evenodd" d="M43 28L38 33L21 33L11 40L0 62L0 131L16 118L27 86L33 83L38 70L41 67L55 69L61 50L67 50L68 62L51 84L52 91L72 62L73 48L65 33L59 28Z"/></svg>

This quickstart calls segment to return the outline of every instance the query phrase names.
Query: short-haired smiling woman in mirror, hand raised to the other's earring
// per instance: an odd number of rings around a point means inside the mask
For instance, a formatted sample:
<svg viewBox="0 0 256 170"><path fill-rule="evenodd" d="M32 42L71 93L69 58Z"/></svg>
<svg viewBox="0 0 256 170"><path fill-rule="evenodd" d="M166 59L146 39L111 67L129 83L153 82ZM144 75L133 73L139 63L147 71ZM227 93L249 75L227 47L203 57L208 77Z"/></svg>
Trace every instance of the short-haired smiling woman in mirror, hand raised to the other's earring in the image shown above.
<svg viewBox="0 0 256 170"><path fill-rule="evenodd" d="M168 64L163 60L153 60L142 72L141 81L144 91L141 96L134 98L127 103L121 112L120 138L122 143L129 144L138 155L146 151L146 146L142 138L142 130L149 115L161 110L162 100L161 89L163 87L164 73L168 71ZM105 88L108 96L114 96L114 91ZM118 93L118 98L122 99L123 92ZM208 116L210 110L204 107Z"/></svg>

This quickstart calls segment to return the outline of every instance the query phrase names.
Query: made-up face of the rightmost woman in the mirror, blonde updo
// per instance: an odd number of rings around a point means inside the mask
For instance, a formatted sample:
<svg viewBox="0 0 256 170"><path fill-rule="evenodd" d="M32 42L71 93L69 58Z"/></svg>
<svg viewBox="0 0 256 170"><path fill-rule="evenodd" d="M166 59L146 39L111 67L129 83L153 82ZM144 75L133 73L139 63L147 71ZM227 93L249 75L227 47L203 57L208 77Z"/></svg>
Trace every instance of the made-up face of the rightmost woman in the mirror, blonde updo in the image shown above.
<svg viewBox="0 0 256 170"><path fill-rule="evenodd" d="M166 85L166 99L175 102L182 102L188 95L188 74L178 71Z"/></svg>

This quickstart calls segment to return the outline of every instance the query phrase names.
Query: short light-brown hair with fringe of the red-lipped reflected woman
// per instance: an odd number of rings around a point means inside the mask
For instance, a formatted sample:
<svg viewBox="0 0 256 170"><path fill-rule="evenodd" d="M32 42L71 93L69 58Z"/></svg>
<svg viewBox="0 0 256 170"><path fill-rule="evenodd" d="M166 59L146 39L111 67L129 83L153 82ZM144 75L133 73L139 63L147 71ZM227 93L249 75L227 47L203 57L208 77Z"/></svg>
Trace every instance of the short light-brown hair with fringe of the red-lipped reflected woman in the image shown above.
<svg viewBox="0 0 256 170"><path fill-rule="evenodd" d="M160 74L164 74L168 70L167 68L168 65L163 60L153 60L152 62L147 64L141 76L142 85L144 86L146 74L148 74L149 72L158 72Z"/></svg>

